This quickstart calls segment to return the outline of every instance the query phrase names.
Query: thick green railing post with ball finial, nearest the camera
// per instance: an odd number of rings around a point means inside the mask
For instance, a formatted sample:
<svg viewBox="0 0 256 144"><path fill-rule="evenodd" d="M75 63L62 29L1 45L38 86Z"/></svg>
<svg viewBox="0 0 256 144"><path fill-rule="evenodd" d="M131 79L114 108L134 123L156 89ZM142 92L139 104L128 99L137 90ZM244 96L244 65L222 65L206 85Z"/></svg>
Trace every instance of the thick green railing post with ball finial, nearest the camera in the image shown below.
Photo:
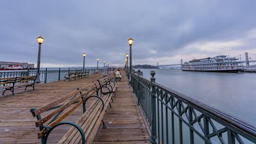
<svg viewBox="0 0 256 144"><path fill-rule="evenodd" d="M155 107L155 86L154 86L154 82L155 82L155 71L152 70L150 71L150 75L152 76L150 78L150 85L152 85L152 93L150 95L150 99L151 99L151 136L149 138L149 141L151 143L156 143L155 139L156 139L156 107Z"/></svg>

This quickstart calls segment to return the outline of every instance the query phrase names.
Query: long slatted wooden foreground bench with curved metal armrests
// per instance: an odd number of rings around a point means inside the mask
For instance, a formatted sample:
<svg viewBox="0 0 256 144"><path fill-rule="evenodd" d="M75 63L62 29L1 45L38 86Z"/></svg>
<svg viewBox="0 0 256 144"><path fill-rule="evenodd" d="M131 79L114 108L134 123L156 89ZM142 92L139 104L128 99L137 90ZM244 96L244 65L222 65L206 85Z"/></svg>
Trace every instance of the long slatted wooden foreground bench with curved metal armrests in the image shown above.
<svg viewBox="0 0 256 144"><path fill-rule="evenodd" d="M48 136L53 129L63 124L73 127L68 130L59 143L85 143L85 141L86 143L91 143L101 122L103 123L103 128L106 128L102 118L117 86L117 83L110 81L113 80L109 77L104 77L83 88L79 88L77 91L59 100L55 100L53 103L40 107L39 109L31 109L32 115L37 117L36 127L39 127L40 130L38 138L42 139L42 143L47 142ZM95 98L96 100L92 101L89 108L86 109L86 101L91 98ZM83 108L83 113L77 122L62 121L75 109L79 108ZM45 111L50 110L54 111L44 117L40 116ZM62 112L63 114L61 115Z"/></svg>

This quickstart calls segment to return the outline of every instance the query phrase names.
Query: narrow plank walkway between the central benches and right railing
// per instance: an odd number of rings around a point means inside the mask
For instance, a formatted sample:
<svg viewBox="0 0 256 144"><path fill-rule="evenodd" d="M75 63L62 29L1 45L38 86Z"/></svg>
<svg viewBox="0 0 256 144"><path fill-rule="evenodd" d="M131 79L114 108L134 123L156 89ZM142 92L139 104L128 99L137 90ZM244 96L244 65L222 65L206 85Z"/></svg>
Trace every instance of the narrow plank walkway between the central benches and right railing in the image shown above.
<svg viewBox="0 0 256 144"><path fill-rule="evenodd" d="M123 72L123 71L122 71ZM94 143L150 143L143 117L132 95L124 73L113 96L113 108L107 109L103 120L107 129L98 128Z"/></svg>

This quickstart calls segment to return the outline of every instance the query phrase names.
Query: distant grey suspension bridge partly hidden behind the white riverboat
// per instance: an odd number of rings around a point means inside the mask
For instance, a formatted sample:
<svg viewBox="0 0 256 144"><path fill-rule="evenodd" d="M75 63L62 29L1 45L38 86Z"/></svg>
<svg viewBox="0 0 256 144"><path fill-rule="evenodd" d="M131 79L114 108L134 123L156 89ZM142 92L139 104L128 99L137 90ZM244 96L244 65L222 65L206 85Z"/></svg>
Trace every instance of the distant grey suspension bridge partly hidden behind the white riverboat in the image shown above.
<svg viewBox="0 0 256 144"><path fill-rule="evenodd" d="M238 59L239 62L245 63L246 66L249 66L249 63L256 63L256 54L254 53L242 53L238 56L235 56L235 58ZM176 66L176 65L181 65L183 64L183 59L181 59L181 63L174 63L174 64L160 64L157 63L156 67L166 67L166 66Z"/></svg>

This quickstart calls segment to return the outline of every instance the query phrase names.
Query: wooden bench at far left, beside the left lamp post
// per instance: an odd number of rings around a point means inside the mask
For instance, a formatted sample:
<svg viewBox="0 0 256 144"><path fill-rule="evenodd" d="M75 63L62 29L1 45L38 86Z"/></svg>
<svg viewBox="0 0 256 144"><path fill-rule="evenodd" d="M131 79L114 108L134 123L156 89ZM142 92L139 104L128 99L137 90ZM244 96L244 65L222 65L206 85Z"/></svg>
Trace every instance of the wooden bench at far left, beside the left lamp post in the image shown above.
<svg viewBox="0 0 256 144"><path fill-rule="evenodd" d="M25 87L33 87L34 90L34 82L36 81L37 76L21 76L21 77L10 77L0 79L0 89L3 90L2 95L5 91L11 91L14 95L15 88Z"/></svg>

